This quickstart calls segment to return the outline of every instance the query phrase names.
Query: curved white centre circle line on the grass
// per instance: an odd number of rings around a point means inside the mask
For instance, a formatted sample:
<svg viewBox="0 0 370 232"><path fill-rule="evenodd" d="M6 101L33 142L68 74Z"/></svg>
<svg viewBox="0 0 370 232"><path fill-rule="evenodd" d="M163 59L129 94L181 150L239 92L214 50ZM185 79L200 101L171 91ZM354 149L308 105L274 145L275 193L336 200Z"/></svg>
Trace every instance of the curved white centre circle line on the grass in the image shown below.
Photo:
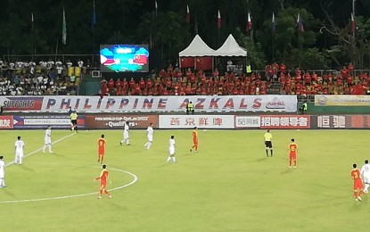
<svg viewBox="0 0 370 232"><path fill-rule="evenodd" d="M55 141L56 142L56 141ZM51 163L48 163L51 164ZM53 163L55 165L59 165L59 163ZM99 168L100 167L95 167L95 166L84 166L84 165L78 165L78 164L68 164L68 165L74 165L74 166L79 166L79 167L89 167L89 168ZM114 190L119 190L121 188L125 188L127 186L132 186L136 183L137 181L137 176L129 171L126 170L118 170L118 169L110 169L110 170L117 170L123 173L127 173L128 175L132 176L134 180L132 180L130 183L127 185L123 186L117 186L111 189L108 189L108 191L114 191ZM62 196L55 196L55 197L46 197L46 198L38 198L38 199L26 199L26 200L12 200L12 201L3 201L0 203L29 203L29 202L41 202L41 201L50 201L50 200L61 200L61 199L68 199L68 198L74 198L74 197L81 197L81 196L86 196L86 195L96 195L98 192L94 193L88 193L88 194L81 194L81 195L62 195Z"/></svg>

